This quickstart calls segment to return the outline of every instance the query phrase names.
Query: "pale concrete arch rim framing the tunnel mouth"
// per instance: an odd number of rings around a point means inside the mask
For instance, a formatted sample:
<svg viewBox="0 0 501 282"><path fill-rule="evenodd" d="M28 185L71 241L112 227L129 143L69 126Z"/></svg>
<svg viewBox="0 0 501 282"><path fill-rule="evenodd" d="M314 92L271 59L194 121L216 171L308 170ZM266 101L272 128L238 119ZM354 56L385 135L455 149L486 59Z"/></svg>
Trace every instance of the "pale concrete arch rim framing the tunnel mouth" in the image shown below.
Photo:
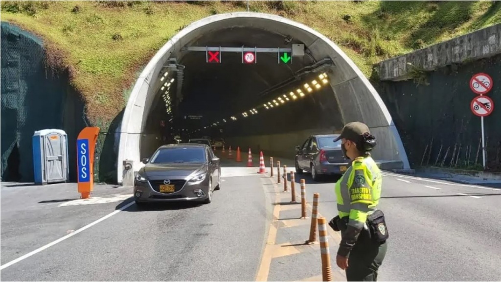
<svg viewBox="0 0 501 282"><path fill-rule="evenodd" d="M339 104L343 124L362 121L368 124L378 138L373 152L375 159L399 161L400 168L410 168L407 153L391 115L381 97L355 63L330 39L320 32L293 20L266 13L232 12L216 14L197 20L175 34L149 61L139 75L129 96L123 114L117 156L117 182L123 183L128 170L124 161L132 160L133 169L141 167L141 134L161 83L162 68L175 51L193 38L228 26L252 26L270 32L290 34L305 44L305 49L316 59L329 57L331 66L329 85ZM266 47L266 46L264 46ZM306 137L306 136L303 136Z"/></svg>

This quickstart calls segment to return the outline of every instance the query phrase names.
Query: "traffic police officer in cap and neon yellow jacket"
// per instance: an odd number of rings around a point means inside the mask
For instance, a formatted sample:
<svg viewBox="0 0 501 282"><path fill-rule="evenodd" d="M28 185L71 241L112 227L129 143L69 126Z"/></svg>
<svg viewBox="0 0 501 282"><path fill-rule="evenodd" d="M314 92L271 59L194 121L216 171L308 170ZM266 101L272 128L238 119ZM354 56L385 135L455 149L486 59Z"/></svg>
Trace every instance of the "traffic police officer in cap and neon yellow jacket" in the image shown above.
<svg viewBox="0 0 501 282"><path fill-rule="evenodd" d="M336 263L346 270L347 281L376 281L388 243L384 214L377 210L381 171L370 156L376 138L362 122L343 127L341 149L352 165L336 183L338 214L329 225L341 231Z"/></svg>

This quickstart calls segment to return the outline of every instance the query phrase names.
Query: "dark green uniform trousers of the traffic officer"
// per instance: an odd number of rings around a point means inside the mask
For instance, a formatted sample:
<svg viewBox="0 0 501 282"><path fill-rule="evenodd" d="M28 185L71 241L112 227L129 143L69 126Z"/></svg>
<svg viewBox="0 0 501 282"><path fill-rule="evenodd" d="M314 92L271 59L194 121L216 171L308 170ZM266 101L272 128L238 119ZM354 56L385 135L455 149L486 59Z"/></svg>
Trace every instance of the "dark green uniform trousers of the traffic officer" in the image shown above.
<svg viewBox="0 0 501 282"><path fill-rule="evenodd" d="M379 266L383 262L388 242L379 243L370 239L357 240L348 257L347 281L377 281Z"/></svg>

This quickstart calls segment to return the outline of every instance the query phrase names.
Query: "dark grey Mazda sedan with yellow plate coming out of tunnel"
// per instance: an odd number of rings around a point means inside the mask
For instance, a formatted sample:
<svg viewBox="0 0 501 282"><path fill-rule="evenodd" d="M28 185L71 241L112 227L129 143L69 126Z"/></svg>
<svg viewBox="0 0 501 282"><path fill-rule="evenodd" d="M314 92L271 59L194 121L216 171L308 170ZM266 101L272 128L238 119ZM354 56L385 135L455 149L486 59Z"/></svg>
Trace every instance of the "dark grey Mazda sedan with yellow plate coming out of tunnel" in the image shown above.
<svg viewBox="0 0 501 282"><path fill-rule="evenodd" d="M153 201L212 201L221 183L219 158L205 144L160 146L136 174L134 199Z"/></svg>

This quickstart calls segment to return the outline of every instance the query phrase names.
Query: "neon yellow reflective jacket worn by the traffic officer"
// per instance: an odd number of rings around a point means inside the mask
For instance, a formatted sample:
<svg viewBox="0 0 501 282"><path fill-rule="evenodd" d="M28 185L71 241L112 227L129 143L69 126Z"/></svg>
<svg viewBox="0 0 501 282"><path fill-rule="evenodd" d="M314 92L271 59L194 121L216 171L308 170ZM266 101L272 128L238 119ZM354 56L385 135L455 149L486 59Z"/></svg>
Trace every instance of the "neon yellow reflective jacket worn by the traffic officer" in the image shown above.
<svg viewBox="0 0 501 282"><path fill-rule="evenodd" d="M381 197L381 170L372 157L357 157L336 182L339 217L349 216L348 225L363 228Z"/></svg>

